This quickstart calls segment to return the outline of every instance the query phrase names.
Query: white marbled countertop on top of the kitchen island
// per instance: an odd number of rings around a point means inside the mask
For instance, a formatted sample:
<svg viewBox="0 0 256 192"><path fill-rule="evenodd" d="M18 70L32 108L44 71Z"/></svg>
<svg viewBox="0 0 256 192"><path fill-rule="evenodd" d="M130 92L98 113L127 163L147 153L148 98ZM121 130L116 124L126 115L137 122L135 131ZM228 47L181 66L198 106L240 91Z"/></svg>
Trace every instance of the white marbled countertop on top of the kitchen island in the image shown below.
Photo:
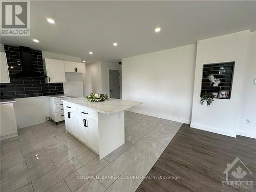
<svg viewBox="0 0 256 192"><path fill-rule="evenodd" d="M129 108L132 108L133 106L142 104L142 102L122 100L122 99L112 99L112 98L109 98L108 101L102 101L102 102L88 102L88 101L85 101L85 99L82 97L66 99L66 100L63 100L63 102L70 102L72 104L86 106L91 110L104 113L107 115L124 111Z"/></svg>

